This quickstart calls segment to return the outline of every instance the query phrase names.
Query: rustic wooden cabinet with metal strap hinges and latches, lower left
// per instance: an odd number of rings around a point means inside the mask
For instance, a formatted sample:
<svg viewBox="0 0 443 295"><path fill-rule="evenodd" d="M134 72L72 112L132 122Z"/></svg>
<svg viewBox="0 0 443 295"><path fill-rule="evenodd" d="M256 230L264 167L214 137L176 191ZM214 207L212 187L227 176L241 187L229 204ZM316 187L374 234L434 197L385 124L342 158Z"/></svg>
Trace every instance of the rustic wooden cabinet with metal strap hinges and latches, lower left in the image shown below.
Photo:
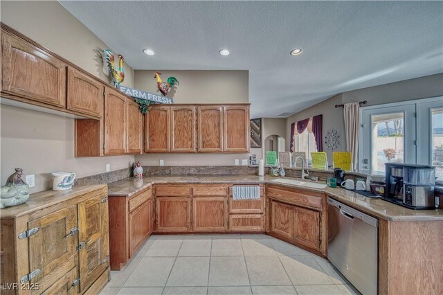
<svg viewBox="0 0 443 295"><path fill-rule="evenodd" d="M109 280L107 186L36 193L0 214L2 294L83 294Z"/></svg>

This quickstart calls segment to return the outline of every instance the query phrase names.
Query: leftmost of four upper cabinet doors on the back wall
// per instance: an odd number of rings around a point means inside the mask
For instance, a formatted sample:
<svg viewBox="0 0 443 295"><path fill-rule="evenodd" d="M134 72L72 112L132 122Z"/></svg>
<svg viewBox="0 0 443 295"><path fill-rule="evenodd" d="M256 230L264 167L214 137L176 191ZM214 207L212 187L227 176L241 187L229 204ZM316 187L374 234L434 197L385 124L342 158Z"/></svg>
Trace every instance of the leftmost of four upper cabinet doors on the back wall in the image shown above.
<svg viewBox="0 0 443 295"><path fill-rule="evenodd" d="M152 107L145 116L145 152L170 151L170 107Z"/></svg>

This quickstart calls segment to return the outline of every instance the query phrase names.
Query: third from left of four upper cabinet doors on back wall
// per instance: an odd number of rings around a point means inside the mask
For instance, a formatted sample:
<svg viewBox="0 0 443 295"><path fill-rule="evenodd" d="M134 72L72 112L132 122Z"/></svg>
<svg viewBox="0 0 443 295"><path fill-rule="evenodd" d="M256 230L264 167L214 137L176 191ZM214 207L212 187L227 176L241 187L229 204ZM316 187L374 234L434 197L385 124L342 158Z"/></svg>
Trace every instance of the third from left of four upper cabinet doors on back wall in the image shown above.
<svg viewBox="0 0 443 295"><path fill-rule="evenodd" d="M223 107L198 107L199 152L223 151Z"/></svg>

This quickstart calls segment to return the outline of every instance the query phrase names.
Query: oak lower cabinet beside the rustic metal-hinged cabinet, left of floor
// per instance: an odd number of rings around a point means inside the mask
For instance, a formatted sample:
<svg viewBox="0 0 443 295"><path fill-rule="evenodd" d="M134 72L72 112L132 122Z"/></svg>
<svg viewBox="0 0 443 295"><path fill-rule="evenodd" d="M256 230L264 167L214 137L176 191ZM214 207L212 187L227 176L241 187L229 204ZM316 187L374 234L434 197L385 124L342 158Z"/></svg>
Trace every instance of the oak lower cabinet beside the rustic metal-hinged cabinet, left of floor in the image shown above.
<svg viewBox="0 0 443 295"><path fill-rule="evenodd" d="M131 197L109 196L111 270L134 257L154 228L152 187Z"/></svg>

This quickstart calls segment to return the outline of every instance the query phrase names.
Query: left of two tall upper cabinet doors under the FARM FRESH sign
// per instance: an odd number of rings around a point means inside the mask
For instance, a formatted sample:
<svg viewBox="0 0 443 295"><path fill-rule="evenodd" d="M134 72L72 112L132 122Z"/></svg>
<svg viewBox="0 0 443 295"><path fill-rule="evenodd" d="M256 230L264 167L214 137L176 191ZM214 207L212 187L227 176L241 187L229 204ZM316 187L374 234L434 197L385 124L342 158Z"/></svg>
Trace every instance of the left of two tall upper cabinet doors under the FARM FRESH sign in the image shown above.
<svg viewBox="0 0 443 295"><path fill-rule="evenodd" d="M125 154L126 129L126 97L106 88L105 154Z"/></svg>

